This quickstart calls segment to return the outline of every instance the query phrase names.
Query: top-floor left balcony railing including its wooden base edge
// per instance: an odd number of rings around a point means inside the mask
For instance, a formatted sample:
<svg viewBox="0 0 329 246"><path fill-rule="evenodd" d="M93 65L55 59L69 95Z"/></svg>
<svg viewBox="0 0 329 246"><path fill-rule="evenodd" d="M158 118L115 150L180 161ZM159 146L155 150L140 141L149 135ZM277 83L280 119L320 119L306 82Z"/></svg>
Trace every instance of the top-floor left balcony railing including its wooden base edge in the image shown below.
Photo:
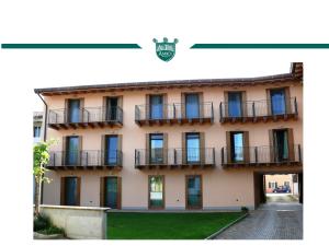
<svg viewBox="0 0 329 246"><path fill-rule="evenodd" d="M50 109L48 125L50 128L78 128L122 126L123 110L121 107L83 107L79 114L71 116L68 108Z"/></svg>

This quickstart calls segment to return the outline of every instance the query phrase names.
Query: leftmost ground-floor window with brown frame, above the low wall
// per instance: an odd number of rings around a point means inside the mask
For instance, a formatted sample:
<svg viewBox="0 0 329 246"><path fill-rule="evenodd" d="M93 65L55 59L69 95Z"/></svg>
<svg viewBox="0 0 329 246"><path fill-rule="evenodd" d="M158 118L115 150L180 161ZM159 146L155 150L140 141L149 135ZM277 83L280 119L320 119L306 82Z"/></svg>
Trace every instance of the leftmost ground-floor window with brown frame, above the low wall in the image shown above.
<svg viewBox="0 0 329 246"><path fill-rule="evenodd" d="M79 206L78 198L78 178L65 177L64 178L64 204L65 206Z"/></svg>

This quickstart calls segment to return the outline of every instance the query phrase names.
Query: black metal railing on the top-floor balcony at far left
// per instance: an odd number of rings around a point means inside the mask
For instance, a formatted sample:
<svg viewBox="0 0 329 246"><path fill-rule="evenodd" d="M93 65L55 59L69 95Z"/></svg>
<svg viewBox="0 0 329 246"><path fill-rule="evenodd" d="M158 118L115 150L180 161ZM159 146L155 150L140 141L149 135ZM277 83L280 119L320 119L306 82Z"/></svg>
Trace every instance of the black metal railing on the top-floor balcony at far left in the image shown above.
<svg viewBox="0 0 329 246"><path fill-rule="evenodd" d="M71 119L73 118L73 120ZM68 108L49 109L48 124L69 122L123 122L123 110L121 107L83 107L79 114L70 117Z"/></svg>

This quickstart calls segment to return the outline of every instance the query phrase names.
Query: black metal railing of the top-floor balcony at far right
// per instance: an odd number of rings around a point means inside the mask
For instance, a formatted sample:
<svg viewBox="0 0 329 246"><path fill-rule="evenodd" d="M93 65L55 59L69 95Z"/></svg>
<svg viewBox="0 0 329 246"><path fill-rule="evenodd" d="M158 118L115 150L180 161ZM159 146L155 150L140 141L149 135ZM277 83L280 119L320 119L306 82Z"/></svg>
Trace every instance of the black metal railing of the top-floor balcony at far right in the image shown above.
<svg viewBox="0 0 329 246"><path fill-rule="evenodd" d="M230 108L228 102L219 104L219 117L223 118L242 118L242 117L264 117L275 115L298 114L296 97L288 98L285 104L275 106L272 101L246 101L242 102L238 109ZM276 108L275 108L276 107Z"/></svg>

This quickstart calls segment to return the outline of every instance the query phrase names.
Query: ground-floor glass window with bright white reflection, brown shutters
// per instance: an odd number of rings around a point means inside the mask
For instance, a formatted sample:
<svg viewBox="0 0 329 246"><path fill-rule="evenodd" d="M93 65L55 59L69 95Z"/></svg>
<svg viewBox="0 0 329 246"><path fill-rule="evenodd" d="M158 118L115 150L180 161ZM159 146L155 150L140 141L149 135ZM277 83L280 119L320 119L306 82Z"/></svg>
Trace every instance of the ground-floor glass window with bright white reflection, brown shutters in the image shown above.
<svg viewBox="0 0 329 246"><path fill-rule="evenodd" d="M163 179L163 176L149 177L149 208L159 209L164 207Z"/></svg>

